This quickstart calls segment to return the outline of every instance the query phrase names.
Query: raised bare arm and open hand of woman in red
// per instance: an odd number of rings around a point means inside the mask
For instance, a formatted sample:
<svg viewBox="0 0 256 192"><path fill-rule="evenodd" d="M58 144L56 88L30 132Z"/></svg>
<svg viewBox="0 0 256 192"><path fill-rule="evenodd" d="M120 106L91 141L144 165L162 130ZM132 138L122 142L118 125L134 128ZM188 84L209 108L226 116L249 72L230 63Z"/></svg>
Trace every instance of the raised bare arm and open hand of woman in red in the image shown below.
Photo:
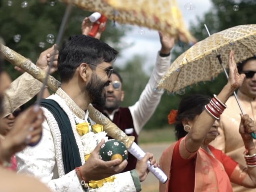
<svg viewBox="0 0 256 192"><path fill-rule="evenodd" d="M218 94L217 98L225 103L228 98L232 95L232 93L242 84L244 80L244 74L239 74L236 62L234 59L234 51L230 52L229 61L229 79L228 83L221 90L220 94ZM194 122L190 132L186 136L186 149L189 152L195 152L200 148L200 145L204 141L206 134L209 132L212 124L216 119L210 115L206 110L204 110Z"/></svg>

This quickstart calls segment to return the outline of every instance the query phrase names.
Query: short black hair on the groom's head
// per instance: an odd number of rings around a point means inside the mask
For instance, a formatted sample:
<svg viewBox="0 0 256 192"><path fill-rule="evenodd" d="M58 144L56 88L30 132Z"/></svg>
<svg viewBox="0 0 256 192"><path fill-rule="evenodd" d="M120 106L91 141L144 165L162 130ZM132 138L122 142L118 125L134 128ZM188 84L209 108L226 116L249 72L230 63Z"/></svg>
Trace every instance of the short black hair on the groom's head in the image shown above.
<svg viewBox="0 0 256 192"><path fill-rule="evenodd" d="M94 65L102 62L112 62L118 51L108 44L86 35L71 36L62 46L58 57L58 72L62 82L68 82L76 68L82 63Z"/></svg>

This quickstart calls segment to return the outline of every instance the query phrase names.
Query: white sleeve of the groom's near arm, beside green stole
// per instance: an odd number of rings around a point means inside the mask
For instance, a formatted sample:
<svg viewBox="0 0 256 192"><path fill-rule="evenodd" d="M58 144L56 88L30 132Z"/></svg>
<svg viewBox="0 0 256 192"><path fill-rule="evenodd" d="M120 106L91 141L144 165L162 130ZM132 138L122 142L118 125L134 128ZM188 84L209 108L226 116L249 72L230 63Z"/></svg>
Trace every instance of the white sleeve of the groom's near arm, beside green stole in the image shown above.
<svg viewBox="0 0 256 192"><path fill-rule="evenodd" d="M28 146L16 154L18 173L39 178L54 192L84 192L75 170L58 178L54 140L46 120L42 126L41 141L36 146Z"/></svg>

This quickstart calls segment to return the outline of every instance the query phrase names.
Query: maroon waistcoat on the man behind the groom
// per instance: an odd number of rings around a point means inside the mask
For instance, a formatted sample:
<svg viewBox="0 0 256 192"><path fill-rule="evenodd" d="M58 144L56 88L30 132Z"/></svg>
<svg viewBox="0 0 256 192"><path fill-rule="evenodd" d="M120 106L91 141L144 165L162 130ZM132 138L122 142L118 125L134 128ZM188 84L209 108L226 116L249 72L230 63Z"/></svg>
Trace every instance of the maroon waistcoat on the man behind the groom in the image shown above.
<svg viewBox="0 0 256 192"><path fill-rule="evenodd" d="M99 108L98 106L94 106L94 107L108 117L108 115L104 113L104 111L101 108ZM138 135L134 130L132 115L129 108L120 107L119 110L115 112L114 119L112 122L116 124L123 132L126 133L127 131L129 131L130 134L127 134L127 133L126 134L128 136L134 136L135 137L134 141L138 143ZM137 159L132 154L128 153L128 164L122 172L135 169L136 163L137 163Z"/></svg>

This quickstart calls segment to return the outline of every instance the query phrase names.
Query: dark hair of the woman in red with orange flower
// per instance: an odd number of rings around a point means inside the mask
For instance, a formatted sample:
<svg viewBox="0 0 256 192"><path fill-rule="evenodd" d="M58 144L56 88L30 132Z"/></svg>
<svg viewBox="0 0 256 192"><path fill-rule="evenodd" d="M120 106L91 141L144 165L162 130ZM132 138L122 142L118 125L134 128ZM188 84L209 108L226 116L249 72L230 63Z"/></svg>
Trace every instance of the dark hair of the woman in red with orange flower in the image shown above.
<svg viewBox="0 0 256 192"><path fill-rule="evenodd" d="M186 136L188 132L184 131L182 120L193 120L197 115L201 114L204 110L204 106L210 102L210 97L202 94L193 94L182 98L178 108L178 114L175 122L175 136L176 139Z"/></svg>

